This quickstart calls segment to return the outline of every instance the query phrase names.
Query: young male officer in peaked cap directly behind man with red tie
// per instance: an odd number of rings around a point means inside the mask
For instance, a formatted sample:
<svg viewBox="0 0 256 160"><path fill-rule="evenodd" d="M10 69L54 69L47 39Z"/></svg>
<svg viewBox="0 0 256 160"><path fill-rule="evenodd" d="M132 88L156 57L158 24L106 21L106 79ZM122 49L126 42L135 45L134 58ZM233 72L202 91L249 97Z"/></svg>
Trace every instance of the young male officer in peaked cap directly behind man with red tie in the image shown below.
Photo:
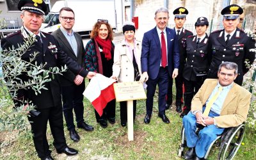
<svg viewBox="0 0 256 160"><path fill-rule="evenodd" d="M181 106L183 103L183 92L182 92L182 84L183 84L183 70L184 64L186 63L186 39L188 36L193 35L191 31L183 28L184 23L186 22L186 15L188 15L188 10L184 7L176 8L173 11L175 27L173 28L176 32L179 41L179 49L180 49L180 64L179 64L179 74L175 78L175 86L176 86L176 111L181 112ZM167 92L167 100L166 100L166 109L169 109L172 105L172 84L173 79L170 78L168 92Z"/></svg>

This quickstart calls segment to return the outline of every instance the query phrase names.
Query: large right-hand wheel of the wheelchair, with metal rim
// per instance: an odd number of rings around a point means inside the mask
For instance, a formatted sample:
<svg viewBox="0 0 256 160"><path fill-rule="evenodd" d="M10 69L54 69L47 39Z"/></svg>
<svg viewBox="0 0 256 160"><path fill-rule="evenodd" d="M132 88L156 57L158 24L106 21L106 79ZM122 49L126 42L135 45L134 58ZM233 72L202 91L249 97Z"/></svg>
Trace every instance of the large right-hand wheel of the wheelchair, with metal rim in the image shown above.
<svg viewBox="0 0 256 160"><path fill-rule="evenodd" d="M234 132L233 132L234 131ZM238 127L230 129L233 132L227 141L224 141L219 153L219 159L233 159L236 155L244 138L245 125L241 124Z"/></svg>

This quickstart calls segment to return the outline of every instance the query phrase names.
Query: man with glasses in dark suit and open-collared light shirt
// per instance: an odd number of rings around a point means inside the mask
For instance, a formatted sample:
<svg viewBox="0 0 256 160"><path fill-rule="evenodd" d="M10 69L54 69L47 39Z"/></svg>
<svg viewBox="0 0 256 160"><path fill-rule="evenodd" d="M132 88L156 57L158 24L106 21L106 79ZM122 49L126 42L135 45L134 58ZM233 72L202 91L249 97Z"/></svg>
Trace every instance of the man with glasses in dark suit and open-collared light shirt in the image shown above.
<svg viewBox="0 0 256 160"><path fill-rule="evenodd" d="M67 52L68 56L75 60L82 67L84 66L84 45L81 36L72 31L75 24L75 14L71 8L64 7L60 10L61 27L54 31L52 35L60 44L63 51ZM73 118L73 108L76 114L77 127L85 131L93 131L93 127L84 122L84 106L83 92L85 88L84 80L82 83L77 83L76 74L67 70L60 76L61 95L63 101L63 113L67 123L70 138L74 141L79 141L79 135L76 132Z"/></svg>

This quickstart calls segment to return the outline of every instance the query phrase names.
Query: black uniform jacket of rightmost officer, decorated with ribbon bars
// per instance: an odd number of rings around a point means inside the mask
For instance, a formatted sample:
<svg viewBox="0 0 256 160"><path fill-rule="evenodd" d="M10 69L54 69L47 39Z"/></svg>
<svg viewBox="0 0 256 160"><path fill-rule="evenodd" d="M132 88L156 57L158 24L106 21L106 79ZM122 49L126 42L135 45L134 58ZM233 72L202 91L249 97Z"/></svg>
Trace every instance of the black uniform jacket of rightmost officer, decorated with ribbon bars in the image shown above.
<svg viewBox="0 0 256 160"><path fill-rule="evenodd" d="M248 72L244 61L249 60L250 64L255 59L255 52L250 49L255 48L255 40L247 36L241 29L236 29L234 35L226 45L224 29L214 31L209 36L209 54L211 54L211 65L208 77L217 77L218 67L223 61L231 61L238 65L238 77L243 81L243 74Z"/></svg>

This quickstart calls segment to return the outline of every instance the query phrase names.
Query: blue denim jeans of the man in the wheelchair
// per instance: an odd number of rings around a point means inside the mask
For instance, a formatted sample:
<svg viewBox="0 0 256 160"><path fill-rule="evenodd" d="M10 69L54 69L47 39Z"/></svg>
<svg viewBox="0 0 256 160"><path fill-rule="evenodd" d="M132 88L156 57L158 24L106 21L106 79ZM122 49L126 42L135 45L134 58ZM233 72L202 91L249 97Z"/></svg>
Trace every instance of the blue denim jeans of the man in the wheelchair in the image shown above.
<svg viewBox="0 0 256 160"><path fill-rule="evenodd" d="M219 116L217 113L210 111L209 116ZM185 129L185 136L187 141L187 146L189 148L195 147L196 156L197 157L204 157L209 146L211 145L212 141L214 141L218 135L220 135L224 129L219 128L216 125L207 125L203 129L200 130L199 134L197 135L196 127L200 124L196 123L196 116L193 113L189 112L188 115L183 117L183 125Z"/></svg>

